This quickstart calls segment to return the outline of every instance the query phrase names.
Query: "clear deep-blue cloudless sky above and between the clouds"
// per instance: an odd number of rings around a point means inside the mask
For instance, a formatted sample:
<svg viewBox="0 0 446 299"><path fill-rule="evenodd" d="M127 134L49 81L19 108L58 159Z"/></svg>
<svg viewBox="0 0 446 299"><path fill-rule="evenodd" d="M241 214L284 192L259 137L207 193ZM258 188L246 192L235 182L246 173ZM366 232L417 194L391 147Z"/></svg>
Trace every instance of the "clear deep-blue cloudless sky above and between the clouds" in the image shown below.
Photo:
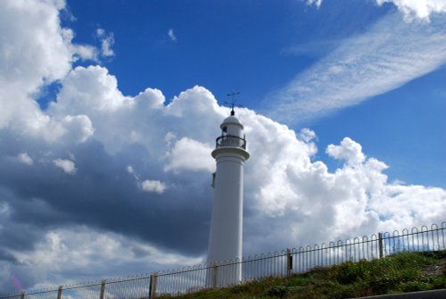
<svg viewBox="0 0 446 299"><path fill-rule="evenodd" d="M396 6L373 1L325 1L320 7L303 1L81 1L69 2L68 12L62 24L74 29L75 42L97 43L98 28L113 34L115 55L103 65L118 78L125 95L150 86L161 89L169 101L201 85L221 104L227 92L237 90L242 92L240 103L267 115L277 90L337 46L361 37L388 15L404 23ZM437 23L444 30L444 22ZM421 26L428 29L434 21ZM314 129L321 148L354 137L368 154L387 162L391 179L445 187L446 91L444 66L436 67L402 87L368 96L358 106L284 122L296 130ZM323 152L319 158L330 162Z"/></svg>

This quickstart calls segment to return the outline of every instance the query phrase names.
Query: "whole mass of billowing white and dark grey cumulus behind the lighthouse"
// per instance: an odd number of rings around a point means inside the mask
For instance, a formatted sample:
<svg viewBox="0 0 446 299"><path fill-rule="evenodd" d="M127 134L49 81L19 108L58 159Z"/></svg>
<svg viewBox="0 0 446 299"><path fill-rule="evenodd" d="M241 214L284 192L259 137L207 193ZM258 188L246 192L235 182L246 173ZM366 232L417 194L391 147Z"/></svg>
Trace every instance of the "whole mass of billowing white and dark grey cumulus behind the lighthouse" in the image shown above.
<svg viewBox="0 0 446 299"><path fill-rule="evenodd" d="M13 290L12 273L28 288L204 261L211 150L228 109L199 86L169 104L154 88L124 96L105 67L71 69L62 3L1 4L0 289ZM52 80L62 88L43 111L29 95ZM446 190L390 182L351 138L322 149L340 162L329 171L316 132L296 135L249 109L236 116L251 154L245 254L444 220Z"/></svg>

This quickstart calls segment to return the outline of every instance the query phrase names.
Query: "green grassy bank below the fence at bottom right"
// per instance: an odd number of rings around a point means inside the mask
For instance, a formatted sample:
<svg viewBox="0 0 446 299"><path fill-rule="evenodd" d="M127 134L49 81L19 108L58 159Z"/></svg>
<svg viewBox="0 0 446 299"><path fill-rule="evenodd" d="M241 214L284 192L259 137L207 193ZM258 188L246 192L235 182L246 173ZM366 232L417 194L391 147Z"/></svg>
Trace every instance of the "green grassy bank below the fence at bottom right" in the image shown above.
<svg viewBox="0 0 446 299"><path fill-rule="evenodd" d="M354 298L439 288L446 288L446 252L399 253L371 262L345 262L287 278L266 278L175 298Z"/></svg>

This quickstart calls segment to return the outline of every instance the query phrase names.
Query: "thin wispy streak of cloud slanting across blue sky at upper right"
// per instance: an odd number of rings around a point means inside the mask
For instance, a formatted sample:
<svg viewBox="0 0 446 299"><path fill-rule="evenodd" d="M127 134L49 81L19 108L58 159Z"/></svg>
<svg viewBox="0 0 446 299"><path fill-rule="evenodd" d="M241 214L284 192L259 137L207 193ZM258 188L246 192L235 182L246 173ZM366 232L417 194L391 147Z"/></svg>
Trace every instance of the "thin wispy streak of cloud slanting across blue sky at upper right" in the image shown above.
<svg viewBox="0 0 446 299"><path fill-rule="evenodd" d="M288 123L313 120L401 87L445 62L444 19L405 22L388 15L278 90L269 114Z"/></svg>

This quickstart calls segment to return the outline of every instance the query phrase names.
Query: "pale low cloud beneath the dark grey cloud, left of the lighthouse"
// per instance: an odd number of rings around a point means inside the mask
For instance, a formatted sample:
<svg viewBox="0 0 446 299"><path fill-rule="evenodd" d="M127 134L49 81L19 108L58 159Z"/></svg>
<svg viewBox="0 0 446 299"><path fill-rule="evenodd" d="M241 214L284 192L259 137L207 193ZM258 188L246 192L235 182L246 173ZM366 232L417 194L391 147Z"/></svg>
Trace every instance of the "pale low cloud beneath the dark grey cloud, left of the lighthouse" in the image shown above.
<svg viewBox="0 0 446 299"><path fill-rule="evenodd" d="M33 250L9 253L21 265L27 265L30 274L38 275L37 288L76 283L79 278L96 280L97 273L116 277L146 273L147 267L163 269L202 262L201 258L170 253L130 237L86 227L49 230ZM110 272L108 264L117 267ZM136 273L128 272L132 267Z"/></svg>

